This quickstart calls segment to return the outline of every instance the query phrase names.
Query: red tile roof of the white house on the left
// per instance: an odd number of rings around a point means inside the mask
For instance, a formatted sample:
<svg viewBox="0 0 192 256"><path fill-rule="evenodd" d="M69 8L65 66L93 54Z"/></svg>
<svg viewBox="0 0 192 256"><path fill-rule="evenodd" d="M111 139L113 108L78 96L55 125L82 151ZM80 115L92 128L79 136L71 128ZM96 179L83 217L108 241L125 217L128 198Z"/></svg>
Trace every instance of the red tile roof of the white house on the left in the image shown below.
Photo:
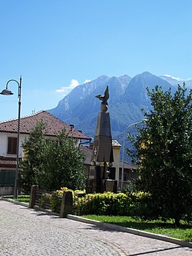
<svg viewBox="0 0 192 256"><path fill-rule="evenodd" d="M90 140L87 135L84 135L82 131L78 131L70 125L66 125L64 121L56 118L54 115L48 113L48 111L39 111L35 114L28 115L20 119L20 133L29 134L32 129L35 128L38 122L44 122L45 134L49 136L58 135L62 129L68 133L69 137L80 138ZM0 132L15 132L18 130L18 119L12 119L9 121L0 122Z"/></svg>

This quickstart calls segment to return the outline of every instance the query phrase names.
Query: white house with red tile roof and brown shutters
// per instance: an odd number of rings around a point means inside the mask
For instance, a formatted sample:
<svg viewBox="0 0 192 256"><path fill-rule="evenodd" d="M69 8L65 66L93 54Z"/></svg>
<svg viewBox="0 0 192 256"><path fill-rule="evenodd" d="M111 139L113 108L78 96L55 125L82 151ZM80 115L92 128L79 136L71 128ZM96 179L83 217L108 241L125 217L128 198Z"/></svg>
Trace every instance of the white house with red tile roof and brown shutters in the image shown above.
<svg viewBox="0 0 192 256"><path fill-rule="evenodd" d="M45 134L55 137L63 129L68 136L74 138L78 145L82 141L91 141L82 131L78 131L73 125L67 125L64 121L56 118L48 111L39 111L33 115L28 115L20 120L20 136L18 157L22 159L22 141L28 138L31 130L35 128L38 122L45 123ZM15 183L15 168L17 154L17 136L18 136L18 119L0 122L0 195L13 194Z"/></svg>

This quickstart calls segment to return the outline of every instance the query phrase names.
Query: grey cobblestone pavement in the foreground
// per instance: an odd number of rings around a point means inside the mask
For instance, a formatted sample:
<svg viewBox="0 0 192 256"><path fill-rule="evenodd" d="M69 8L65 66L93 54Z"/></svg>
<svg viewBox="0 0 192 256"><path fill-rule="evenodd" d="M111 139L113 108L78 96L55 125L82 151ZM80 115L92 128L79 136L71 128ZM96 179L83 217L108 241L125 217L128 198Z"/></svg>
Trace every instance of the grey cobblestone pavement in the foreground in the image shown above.
<svg viewBox="0 0 192 256"><path fill-rule="evenodd" d="M0 201L0 256L185 256L191 248Z"/></svg>

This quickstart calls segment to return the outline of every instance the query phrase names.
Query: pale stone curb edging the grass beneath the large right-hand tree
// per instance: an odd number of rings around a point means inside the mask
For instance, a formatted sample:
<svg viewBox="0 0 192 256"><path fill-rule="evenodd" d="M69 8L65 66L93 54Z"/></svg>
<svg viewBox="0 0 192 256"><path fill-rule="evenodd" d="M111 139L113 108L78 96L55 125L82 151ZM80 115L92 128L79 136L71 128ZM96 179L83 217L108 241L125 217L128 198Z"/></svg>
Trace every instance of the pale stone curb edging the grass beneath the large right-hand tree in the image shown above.
<svg viewBox="0 0 192 256"><path fill-rule="evenodd" d="M121 227L115 224L111 224L111 223L105 223L105 222L101 222L101 221L93 221L90 220L88 218L82 218L79 216L75 216L75 215L71 215L68 214L67 218L74 220L74 221L81 221L84 223L88 223L88 224L94 224L94 225L98 225L100 227L103 228L111 228L114 229L116 231L121 231L121 232L127 232L127 233L131 233L131 234L137 234L137 235L141 235L145 238L153 238L153 239L157 239L157 240L161 240L161 241L167 241L170 243L174 243L174 244L179 244L183 247L189 247L192 248L192 242L188 242L188 241L183 241L177 238L170 238L167 237L165 235L161 235L161 234L154 234L154 233L150 233L150 232L146 232L146 231L139 231L137 229L134 228L125 228L125 227Z"/></svg>

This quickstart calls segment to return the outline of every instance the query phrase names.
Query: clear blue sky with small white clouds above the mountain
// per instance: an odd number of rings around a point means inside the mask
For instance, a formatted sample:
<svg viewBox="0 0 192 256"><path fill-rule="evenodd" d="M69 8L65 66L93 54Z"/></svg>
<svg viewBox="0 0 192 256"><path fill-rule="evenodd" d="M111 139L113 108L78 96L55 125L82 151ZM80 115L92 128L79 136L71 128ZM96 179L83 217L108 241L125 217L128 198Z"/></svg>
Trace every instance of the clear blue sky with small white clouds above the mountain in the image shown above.
<svg viewBox="0 0 192 256"><path fill-rule="evenodd" d="M22 116L55 108L100 75L191 78L190 0L1 0L0 91L22 75ZM0 121L17 118L18 85L0 95Z"/></svg>

